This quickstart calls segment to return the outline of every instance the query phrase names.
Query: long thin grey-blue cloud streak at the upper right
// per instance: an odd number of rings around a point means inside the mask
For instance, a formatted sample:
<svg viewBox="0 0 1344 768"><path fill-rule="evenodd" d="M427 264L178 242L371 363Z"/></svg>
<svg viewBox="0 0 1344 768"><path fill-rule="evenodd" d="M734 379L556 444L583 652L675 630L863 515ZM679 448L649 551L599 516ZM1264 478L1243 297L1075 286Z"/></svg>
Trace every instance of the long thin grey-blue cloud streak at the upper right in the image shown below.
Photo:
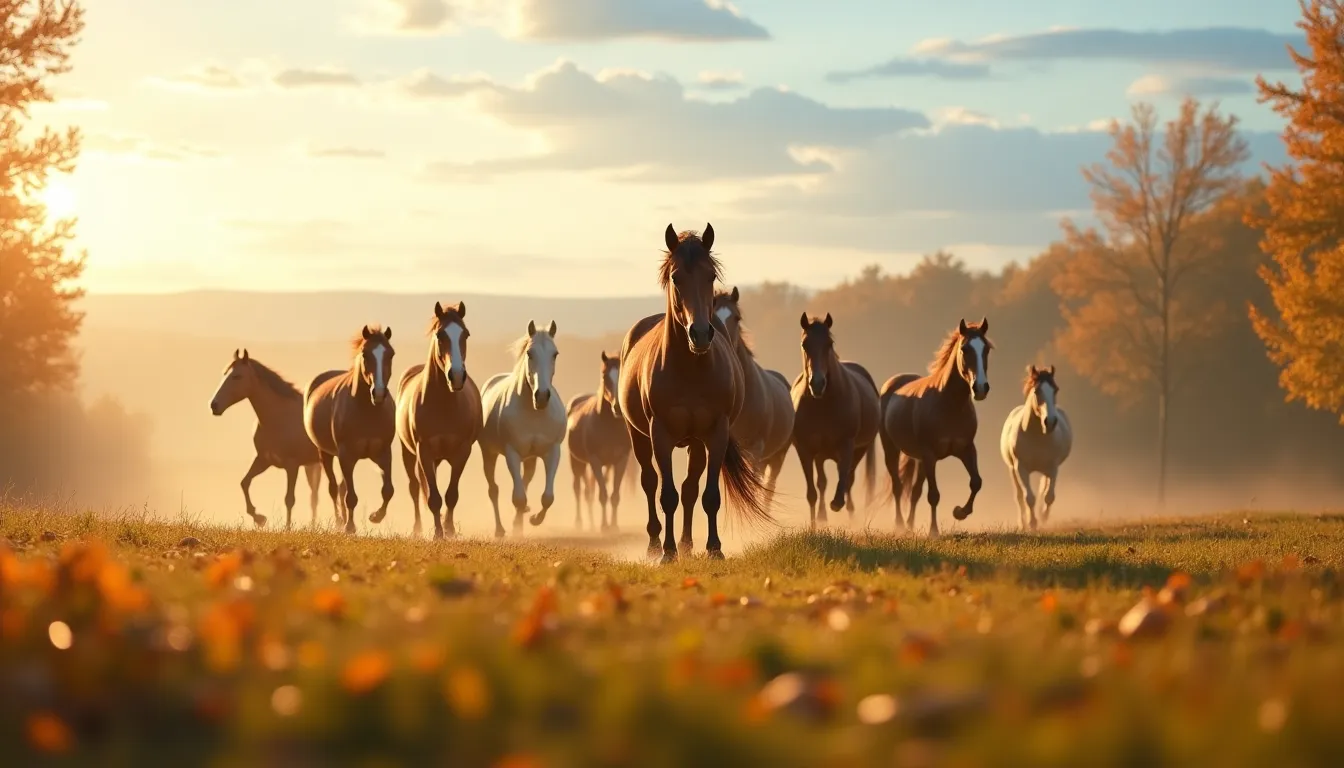
<svg viewBox="0 0 1344 768"><path fill-rule="evenodd" d="M1129 30L1051 30L1030 35L997 35L974 43L925 40L915 52L961 63L1043 61L1128 61L1189 65L1220 71L1293 69L1288 46L1298 48L1301 34L1243 27L1204 27L1161 32Z"/></svg>

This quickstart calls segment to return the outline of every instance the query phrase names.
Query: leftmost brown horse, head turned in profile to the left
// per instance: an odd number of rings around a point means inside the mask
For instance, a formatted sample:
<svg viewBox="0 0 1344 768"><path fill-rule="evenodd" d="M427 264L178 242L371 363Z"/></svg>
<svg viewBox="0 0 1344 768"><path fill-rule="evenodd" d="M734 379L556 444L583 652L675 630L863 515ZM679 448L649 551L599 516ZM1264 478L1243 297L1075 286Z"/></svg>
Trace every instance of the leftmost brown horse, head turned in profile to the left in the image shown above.
<svg viewBox="0 0 1344 768"><path fill-rule="evenodd" d="M312 488L309 504L316 526L321 460L317 457L313 441L304 432L302 393L280 374L253 359L247 350L241 354L234 350L234 359L224 369L224 378L219 382L215 397L210 398L210 413L223 416L230 406L245 399L251 402L253 412L257 413L257 430L253 432L253 448L257 449L257 456L243 475L243 482L239 483L243 490L243 503L247 504L247 516L257 527L266 525L266 515L258 514L251 503L251 482L266 469L280 467L285 471L285 527L290 527L294 518L294 486L298 484L298 469L302 468L308 475L308 487Z"/></svg>

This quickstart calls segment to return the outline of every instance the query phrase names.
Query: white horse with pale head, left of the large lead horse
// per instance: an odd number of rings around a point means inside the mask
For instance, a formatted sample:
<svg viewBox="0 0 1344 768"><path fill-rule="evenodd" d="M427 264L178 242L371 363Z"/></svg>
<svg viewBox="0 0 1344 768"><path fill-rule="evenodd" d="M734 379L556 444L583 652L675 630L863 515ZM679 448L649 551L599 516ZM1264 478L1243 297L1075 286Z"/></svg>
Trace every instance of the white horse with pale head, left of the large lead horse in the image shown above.
<svg viewBox="0 0 1344 768"><path fill-rule="evenodd" d="M517 360L513 371L491 377L481 387L481 410L485 428L481 430L481 457L485 482L489 484L491 504L495 507L495 535L504 535L500 522L500 487L495 482L495 460L504 455L509 475L513 476L513 533L523 533L527 514L527 484L524 461L540 459L546 464L546 490L542 492L542 511L531 518L534 526L546 521L546 511L555 503L555 471L560 465L560 445L564 443L564 399L552 386L555 378L555 320L544 331L536 323L527 324L527 336L515 344Z"/></svg>

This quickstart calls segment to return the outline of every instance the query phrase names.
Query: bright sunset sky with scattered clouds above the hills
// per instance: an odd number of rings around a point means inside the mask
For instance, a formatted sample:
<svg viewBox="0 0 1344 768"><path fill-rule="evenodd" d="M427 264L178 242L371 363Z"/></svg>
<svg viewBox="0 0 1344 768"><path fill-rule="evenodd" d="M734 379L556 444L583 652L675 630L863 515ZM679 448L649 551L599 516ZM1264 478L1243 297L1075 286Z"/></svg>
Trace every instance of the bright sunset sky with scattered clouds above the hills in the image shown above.
<svg viewBox="0 0 1344 768"><path fill-rule="evenodd" d="M996 269L1089 208L1136 101L1296 82L1267 0L98 0L58 101L94 292L656 292L668 223L732 284L952 250Z"/></svg>

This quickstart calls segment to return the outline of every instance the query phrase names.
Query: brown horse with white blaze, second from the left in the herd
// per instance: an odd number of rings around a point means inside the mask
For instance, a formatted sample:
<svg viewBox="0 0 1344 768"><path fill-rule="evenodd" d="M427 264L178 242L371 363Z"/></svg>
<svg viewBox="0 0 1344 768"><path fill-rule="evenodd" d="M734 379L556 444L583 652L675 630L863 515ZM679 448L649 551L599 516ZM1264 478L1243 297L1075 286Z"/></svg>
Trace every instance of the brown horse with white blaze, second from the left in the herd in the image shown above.
<svg viewBox="0 0 1344 768"><path fill-rule="evenodd" d="M392 443L396 440L396 404L387 397L392 373L392 330L370 328L351 339L355 355L349 370L317 374L304 394L304 429L317 447L336 516L345 533L355 533L355 463L370 459L383 472L383 506L368 516L379 522L392 499ZM340 483L332 460L340 463ZM344 496L344 498L341 498Z"/></svg>

